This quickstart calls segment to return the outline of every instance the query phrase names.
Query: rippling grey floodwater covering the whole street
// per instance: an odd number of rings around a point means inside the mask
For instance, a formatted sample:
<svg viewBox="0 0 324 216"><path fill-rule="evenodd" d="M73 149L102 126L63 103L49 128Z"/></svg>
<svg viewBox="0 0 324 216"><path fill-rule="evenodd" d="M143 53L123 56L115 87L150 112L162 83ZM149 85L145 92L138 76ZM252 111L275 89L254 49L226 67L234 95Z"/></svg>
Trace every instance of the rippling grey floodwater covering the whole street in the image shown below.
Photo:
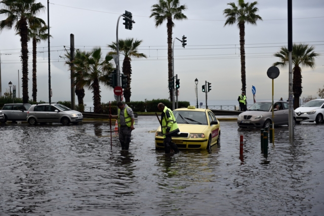
<svg viewBox="0 0 324 216"><path fill-rule="evenodd" d="M210 153L166 156L158 124L140 116L129 152L106 123L0 124L0 215L324 214L324 124L296 125L294 143L275 128L267 156L260 129L227 121Z"/></svg>

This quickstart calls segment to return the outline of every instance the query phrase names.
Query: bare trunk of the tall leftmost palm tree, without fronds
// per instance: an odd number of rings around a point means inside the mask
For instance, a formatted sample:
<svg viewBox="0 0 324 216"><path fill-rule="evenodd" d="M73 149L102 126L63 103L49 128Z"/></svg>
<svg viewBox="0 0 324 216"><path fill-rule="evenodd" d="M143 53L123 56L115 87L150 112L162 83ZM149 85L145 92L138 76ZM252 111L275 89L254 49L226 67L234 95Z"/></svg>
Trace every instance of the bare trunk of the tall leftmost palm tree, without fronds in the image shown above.
<svg viewBox="0 0 324 216"><path fill-rule="evenodd" d="M19 33L21 42L21 61L22 61L22 101L28 103L28 27L26 18L19 20Z"/></svg>

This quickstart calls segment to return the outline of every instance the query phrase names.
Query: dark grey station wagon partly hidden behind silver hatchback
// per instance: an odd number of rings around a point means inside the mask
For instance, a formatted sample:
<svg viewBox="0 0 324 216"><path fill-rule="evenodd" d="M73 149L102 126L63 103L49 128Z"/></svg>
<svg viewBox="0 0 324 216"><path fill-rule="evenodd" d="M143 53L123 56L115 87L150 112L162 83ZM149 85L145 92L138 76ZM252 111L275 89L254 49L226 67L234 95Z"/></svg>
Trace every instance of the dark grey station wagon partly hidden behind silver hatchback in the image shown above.
<svg viewBox="0 0 324 216"><path fill-rule="evenodd" d="M2 123L7 121L26 121L27 111L31 106L30 103L6 103L2 107L2 113L5 119L1 120Z"/></svg>

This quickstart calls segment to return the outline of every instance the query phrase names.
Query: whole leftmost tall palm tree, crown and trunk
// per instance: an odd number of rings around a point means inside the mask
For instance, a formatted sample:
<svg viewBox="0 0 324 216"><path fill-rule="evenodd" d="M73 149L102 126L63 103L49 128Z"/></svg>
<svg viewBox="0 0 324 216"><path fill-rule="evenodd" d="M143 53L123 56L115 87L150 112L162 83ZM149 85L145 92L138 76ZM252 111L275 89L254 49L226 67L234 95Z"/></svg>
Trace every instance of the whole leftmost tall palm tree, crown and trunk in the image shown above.
<svg viewBox="0 0 324 216"><path fill-rule="evenodd" d="M34 3L35 0L3 0L0 4L4 5L0 9L0 14L5 14L7 19L0 21L0 31L12 29L15 25L16 32L20 34L21 42L21 61L22 61L22 99L28 103L28 24L44 24L45 21L35 17L38 13L45 10L42 3Z"/></svg>

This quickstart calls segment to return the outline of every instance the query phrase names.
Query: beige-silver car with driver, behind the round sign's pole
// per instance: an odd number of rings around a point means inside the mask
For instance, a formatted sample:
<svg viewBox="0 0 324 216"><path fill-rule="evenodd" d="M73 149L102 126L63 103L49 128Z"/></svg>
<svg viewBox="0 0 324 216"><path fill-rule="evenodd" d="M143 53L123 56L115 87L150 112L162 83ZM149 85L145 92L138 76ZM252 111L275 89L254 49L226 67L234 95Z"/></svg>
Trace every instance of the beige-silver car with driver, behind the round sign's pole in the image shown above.
<svg viewBox="0 0 324 216"><path fill-rule="evenodd" d="M278 109L274 109L274 126L288 125L289 112L288 102L276 100L273 101L274 107L278 105ZM296 115L293 112L293 125L296 124ZM238 115L238 127L269 127L272 124L272 101L260 101L254 103L249 110Z"/></svg>

